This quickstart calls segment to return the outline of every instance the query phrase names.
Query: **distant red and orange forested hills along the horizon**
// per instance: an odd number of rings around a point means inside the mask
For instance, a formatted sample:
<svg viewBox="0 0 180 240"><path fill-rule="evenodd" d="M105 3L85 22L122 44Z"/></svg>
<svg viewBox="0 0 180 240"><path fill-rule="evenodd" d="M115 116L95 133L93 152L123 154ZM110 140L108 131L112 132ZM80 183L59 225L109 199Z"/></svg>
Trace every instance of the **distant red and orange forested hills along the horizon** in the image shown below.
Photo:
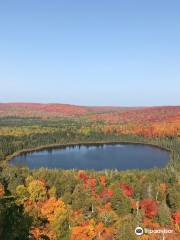
<svg viewBox="0 0 180 240"><path fill-rule="evenodd" d="M180 136L180 107L83 107L68 104L1 103L0 117L74 118L103 123L106 134Z"/></svg>

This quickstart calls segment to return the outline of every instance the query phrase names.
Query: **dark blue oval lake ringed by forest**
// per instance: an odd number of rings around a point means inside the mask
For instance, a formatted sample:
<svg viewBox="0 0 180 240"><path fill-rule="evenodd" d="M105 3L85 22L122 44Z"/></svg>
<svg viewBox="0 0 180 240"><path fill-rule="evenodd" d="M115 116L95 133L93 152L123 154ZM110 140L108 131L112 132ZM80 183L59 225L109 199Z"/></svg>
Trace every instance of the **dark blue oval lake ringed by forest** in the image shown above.
<svg viewBox="0 0 180 240"><path fill-rule="evenodd" d="M164 167L169 160L165 150L140 144L104 144L71 146L26 153L11 160L12 164L30 169L149 169Z"/></svg>

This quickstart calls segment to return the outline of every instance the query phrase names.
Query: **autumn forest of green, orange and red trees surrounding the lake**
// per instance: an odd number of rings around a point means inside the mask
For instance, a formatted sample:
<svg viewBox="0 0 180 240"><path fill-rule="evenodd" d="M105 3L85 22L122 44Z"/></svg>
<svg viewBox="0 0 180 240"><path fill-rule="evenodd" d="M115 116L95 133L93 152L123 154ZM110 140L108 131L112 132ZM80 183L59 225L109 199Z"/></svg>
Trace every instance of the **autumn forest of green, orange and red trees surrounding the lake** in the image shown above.
<svg viewBox="0 0 180 240"><path fill-rule="evenodd" d="M13 166L23 151L129 142L167 149L165 168L117 171ZM169 234L143 229L170 229ZM180 239L180 107L0 104L0 239Z"/></svg>

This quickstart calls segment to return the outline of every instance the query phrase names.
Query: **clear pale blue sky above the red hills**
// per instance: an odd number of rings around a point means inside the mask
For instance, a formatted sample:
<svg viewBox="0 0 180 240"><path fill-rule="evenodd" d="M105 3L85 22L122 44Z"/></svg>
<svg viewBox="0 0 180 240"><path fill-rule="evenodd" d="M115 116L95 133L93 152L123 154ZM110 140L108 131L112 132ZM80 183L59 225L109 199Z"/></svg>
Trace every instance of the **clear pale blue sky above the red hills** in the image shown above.
<svg viewBox="0 0 180 240"><path fill-rule="evenodd" d="M180 1L1 0L12 101L180 105Z"/></svg>

